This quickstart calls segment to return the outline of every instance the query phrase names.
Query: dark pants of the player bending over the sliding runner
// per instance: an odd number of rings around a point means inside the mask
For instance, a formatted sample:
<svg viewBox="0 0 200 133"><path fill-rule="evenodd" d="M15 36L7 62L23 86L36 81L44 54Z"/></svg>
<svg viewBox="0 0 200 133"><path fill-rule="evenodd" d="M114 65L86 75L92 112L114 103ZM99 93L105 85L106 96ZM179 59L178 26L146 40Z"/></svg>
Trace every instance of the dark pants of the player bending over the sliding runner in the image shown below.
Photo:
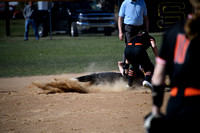
<svg viewBox="0 0 200 133"><path fill-rule="evenodd" d="M132 67L129 70L128 85L132 86L132 80L139 70L139 65L145 72L152 72L154 65L151 63L149 56L143 46L127 45L124 50L125 58L129 61ZM151 78L151 77L150 77Z"/></svg>

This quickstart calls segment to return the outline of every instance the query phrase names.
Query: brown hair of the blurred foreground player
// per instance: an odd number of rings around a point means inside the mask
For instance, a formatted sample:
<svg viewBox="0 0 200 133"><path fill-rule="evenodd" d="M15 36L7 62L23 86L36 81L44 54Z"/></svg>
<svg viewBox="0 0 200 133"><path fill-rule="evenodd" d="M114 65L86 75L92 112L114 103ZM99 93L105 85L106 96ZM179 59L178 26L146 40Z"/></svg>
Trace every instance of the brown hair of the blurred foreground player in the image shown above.
<svg viewBox="0 0 200 133"><path fill-rule="evenodd" d="M185 23L185 33L186 36L192 40L200 33L200 17L197 15L189 15Z"/></svg>

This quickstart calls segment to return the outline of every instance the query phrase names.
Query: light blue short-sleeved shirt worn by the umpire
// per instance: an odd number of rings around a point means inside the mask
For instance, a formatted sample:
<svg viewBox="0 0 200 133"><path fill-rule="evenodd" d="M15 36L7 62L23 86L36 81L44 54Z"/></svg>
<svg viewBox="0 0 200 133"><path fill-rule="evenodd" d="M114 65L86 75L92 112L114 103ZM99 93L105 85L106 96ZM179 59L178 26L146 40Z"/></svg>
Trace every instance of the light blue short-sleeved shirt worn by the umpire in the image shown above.
<svg viewBox="0 0 200 133"><path fill-rule="evenodd" d="M119 17L124 18L124 24L140 26L143 17L147 16L147 8L144 0L124 0L120 7Z"/></svg>

